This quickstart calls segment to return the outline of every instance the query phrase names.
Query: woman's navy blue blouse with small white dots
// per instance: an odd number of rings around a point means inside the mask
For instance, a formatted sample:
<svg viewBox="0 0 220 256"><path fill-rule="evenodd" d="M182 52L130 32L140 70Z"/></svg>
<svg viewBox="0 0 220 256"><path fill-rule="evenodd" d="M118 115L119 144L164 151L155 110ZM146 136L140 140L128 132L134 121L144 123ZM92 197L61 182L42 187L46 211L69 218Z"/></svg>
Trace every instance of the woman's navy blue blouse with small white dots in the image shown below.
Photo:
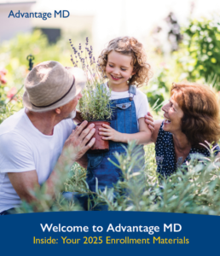
<svg viewBox="0 0 220 256"><path fill-rule="evenodd" d="M176 155L173 143L173 137L171 132L164 131L164 122L159 128L159 133L157 137L157 142L155 144L156 151L156 162L157 162L157 172L163 177L170 176L173 172L177 171L177 167L181 164L184 165L188 160L190 160L190 154L204 154L205 156L210 156L210 152L207 148L191 148L187 158L182 163L182 158L176 162ZM217 145L215 148L215 155L220 152L220 148Z"/></svg>

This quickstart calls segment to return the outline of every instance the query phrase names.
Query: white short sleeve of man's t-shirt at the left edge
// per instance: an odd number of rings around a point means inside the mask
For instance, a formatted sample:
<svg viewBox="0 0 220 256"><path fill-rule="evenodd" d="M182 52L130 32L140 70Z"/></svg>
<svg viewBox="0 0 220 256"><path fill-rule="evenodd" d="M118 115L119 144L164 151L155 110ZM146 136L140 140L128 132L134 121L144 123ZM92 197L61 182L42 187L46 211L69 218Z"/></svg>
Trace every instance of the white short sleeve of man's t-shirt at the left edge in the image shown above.
<svg viewBox="0 0 220 256"><path fill-rule="evenodd" d="M0 136L0 172L36 170L32 148L26 138L14 133Z"/></svg>

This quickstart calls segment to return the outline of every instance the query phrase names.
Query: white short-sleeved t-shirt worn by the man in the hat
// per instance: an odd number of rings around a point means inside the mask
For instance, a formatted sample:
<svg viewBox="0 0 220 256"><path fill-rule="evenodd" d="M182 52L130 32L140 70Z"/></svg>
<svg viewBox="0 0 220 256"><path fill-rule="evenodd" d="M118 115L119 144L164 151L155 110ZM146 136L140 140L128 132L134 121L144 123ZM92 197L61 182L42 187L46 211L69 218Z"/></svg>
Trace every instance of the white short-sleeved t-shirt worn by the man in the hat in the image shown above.
<svg viewBox="0 0 220 256"><path fill-rule="evenodd" d="M20 204L8 172L36 170L38 183L44 183L74 128L72 119L65 119L55 125L53 135L46 136L32 125L25 108L3 121L0 125L0 212Z"/></svg>

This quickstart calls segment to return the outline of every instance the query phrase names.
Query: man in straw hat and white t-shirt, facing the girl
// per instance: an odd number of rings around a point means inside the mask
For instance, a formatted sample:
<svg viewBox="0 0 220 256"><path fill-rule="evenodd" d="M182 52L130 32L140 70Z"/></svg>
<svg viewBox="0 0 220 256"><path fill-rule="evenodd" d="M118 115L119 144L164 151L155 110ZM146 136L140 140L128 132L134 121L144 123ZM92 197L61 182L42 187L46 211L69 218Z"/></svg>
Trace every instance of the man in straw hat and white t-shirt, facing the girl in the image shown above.
<svg viewBox="0 0 220 256"><path fill-rule="evenodd" d="M29 192L46 182L64 148L73 146L74 159L87 166L85 152L95 143L95 129L87 121L75 129L72 118L82 97L86 77L83 70L65 68L59 62L45 61L34 67L25 80L25 108L0 125L0 215L31 202Z"/></svg>

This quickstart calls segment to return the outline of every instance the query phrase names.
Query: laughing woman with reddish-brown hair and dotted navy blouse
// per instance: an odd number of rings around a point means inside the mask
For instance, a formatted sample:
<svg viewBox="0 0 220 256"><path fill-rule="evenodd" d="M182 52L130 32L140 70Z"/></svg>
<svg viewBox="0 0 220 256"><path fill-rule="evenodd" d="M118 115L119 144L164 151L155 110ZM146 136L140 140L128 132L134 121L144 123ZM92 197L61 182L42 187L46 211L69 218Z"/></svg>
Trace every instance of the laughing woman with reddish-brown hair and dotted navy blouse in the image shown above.
<svg viewBox="0 0 220 256"><path fill-rule="evenodd" d="M171 99L162 110L165 119L155 121L152 142L155 143L157 172L168 177L190 160L190 154L210 155L201 143L217 144L219 107L216 95L208 86L178 83L172 85ZM215 150L220 156L218 145Z"/></svg>

